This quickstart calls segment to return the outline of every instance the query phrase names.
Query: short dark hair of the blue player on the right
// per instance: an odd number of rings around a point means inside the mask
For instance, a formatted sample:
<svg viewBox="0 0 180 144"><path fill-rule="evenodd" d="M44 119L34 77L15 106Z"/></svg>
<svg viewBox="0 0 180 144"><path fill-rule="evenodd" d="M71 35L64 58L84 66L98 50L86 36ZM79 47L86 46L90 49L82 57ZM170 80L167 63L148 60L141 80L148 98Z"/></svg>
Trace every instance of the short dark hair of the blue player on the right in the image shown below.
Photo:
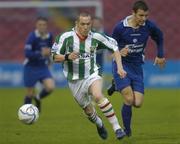
<svg viewBox="0 0 180 144"><path fill-rule="evenodd" d="M141 10L144 10L144 11L148 11L149 10L148 5L143 0L136 1L133 4L133 8L132 9L133 9L134 12L137 12L138 9L141 9Z"/></svg>

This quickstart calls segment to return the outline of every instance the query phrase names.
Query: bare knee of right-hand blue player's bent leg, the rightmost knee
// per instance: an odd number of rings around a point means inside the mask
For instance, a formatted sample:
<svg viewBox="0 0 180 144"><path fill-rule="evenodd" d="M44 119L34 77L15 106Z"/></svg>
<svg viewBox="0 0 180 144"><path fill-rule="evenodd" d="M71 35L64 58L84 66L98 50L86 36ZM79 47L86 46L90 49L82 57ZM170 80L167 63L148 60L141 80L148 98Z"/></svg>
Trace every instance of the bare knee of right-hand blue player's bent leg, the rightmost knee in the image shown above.
<svg viewBox="0 0 180 144"><path fill-rule="evenodd" d="M144 95L141 92L134 91L134 106L141 107L144 101Z"/></svg>

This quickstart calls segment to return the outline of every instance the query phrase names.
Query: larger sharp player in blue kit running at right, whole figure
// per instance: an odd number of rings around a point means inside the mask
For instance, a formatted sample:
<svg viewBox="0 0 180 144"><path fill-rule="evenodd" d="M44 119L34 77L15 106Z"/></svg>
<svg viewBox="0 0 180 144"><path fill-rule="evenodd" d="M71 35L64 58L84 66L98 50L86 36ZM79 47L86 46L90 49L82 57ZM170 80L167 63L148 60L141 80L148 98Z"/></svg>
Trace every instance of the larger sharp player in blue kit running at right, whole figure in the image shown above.
<svg viewBox="0 0 180 144"><path fill-rule="evenodd" d="M144 99L142 64L144 49L149 36L157 45L157 56L154 64L157 64L160 68L165 65L163 33L147 17L147 4L144 1L135 2L132 8L132 15L120 21L115 26L112 35L118 42L123 67L127 72L127 76L119 78L116 72L116 63L113 62L114 84L108 89L108 94L112 95L116 89L124 98L121 114L127 136L131 135L132 106L141 107Z"/></svg>

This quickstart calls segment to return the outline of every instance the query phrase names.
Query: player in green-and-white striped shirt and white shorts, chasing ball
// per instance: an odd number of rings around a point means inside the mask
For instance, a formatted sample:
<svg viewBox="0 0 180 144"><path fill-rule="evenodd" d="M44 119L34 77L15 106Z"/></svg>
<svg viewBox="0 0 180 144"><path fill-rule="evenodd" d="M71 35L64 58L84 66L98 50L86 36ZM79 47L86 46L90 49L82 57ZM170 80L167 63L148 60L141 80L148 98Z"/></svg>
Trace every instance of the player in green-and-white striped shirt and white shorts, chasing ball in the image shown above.
<svg viewBox="0 0 180 144"><path fill-rule="evenodd" d="M102 94L102 78L98 75L96 50L107 48L114 53L117 73L124 78L126 72L121 64L121 56L114 39L91 31L92 18L88 13L81 13L75 27L56 38L51 49L54 62L63 62L63 72L68 79L69 88L76 102L81 106L88 119L96 124L99 136L107 139L107 131L102 119L97 115L92 100L112 124L117 139L122 139L125 132L120 127L111 103Z"/></svg>

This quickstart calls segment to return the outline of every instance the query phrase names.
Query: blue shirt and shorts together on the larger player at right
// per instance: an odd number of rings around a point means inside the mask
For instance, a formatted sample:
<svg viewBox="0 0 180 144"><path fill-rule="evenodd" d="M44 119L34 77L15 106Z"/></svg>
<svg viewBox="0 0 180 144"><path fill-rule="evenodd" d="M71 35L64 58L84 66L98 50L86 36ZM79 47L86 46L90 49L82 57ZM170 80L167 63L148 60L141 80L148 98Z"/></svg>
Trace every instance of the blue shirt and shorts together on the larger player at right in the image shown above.
<svg viewBox="0 0 180 144"><path fill-rule="evenodd" d="M127 72L127 76L123 79L117 74L117 65L113 62L113 77L115 86L118 91L131 86L133 91L144 93L143 82L143 54L146 47L149 36L157 44L157 56L159 58L164 57L163 54L163 34L161 30L150 20L137 29L134 29L128 25L128 18L119 22L114 28L112 37L117 40L119 50L128 46L128 55L122 57L122 64L124 70Z"/></svg>

